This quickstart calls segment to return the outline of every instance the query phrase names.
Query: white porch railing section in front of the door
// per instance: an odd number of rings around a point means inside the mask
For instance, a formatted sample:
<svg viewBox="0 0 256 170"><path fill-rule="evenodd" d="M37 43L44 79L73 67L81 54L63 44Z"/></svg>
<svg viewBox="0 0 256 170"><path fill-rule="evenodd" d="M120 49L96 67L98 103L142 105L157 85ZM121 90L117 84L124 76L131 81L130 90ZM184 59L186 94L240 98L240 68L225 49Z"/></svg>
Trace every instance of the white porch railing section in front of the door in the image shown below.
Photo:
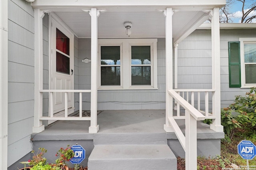
<svg viewBox="0 0 256 170"><path fill-rule="evenodd" d="M91 117L82 117L82 93L90 93L91 90L40 90L40 93L48 92L49 93L49 107L50 114L49 116L41 116L39 120L90 120ZM71 117L68 116L68 93L79 93L79 117ZM64 93L64 117L63 116L55 116L53 111L54 100L53 93Z"/></svg>

